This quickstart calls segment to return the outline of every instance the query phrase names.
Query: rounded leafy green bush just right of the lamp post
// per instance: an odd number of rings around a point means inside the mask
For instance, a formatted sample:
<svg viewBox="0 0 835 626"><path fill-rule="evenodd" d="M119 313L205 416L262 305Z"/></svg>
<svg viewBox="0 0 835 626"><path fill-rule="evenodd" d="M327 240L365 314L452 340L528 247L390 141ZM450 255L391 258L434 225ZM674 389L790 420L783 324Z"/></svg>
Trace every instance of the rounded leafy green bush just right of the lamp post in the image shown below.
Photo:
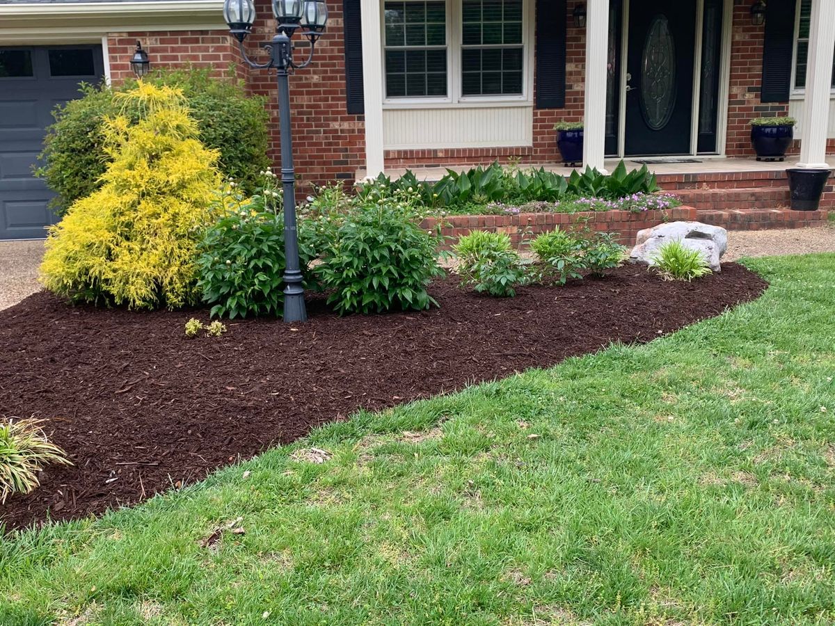
<svg viewBox="0 0 835 626"><path fill-rule="evenodd" d="M422 310L438 303L428 294L438 266L438 235L420 227L408 195L374 204L357 202L326 232L314 272L340 315L392 309Z"/></svg>

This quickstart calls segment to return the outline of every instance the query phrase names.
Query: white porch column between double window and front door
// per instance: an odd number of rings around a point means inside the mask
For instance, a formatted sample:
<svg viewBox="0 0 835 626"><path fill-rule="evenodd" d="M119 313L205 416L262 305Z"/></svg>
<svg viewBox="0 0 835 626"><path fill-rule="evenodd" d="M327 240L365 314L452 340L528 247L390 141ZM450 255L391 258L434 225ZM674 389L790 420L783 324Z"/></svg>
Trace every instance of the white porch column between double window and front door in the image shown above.
<svg viewBox="0 0 835 626"><path fill-rule="evenodd" d="M835 3L835 1L833 1ZM583 164L605 171L609 0L589 0L585 27Z"/></svg>

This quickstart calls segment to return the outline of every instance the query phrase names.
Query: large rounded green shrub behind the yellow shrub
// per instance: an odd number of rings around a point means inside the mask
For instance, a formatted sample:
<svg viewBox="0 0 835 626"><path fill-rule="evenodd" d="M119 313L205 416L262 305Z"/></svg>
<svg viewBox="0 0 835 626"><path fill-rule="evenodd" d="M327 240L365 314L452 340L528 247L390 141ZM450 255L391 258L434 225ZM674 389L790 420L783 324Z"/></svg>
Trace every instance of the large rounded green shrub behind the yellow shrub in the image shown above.
<svg viewBox="0 0 835 626"><path fill-rule="evenodd" d="M182 90L199 139L206 147L220 151L220 170L246 193L252 193L258 172L269 164L266 99L248 97L243 85L231 78L210 78L207 69L159 70L144 82ZM104 120L124 114L132 123L139 121L142 109L116 98L117 93L135 86L135 81L119 88L82 85L81 98L55 109L56 121L47 130L40 155L43 165L36 173L58 194L51 204L56 215L63 215L75 200L87 197L104 183L101 176L110 160L104 149Z"/></svg>

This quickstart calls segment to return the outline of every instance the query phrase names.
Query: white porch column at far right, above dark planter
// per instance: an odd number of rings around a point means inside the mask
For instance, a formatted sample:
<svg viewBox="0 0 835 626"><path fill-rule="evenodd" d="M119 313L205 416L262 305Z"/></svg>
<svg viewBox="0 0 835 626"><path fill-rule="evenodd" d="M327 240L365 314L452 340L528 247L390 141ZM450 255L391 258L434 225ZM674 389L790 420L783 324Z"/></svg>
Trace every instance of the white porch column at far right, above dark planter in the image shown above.
<svg viewBox="0 0 835 626"><path fill-rule="evenodd" d="M806 97L803 98L801 168L828 168L827 127L835 52L835 0L812 0Z"/></svg>

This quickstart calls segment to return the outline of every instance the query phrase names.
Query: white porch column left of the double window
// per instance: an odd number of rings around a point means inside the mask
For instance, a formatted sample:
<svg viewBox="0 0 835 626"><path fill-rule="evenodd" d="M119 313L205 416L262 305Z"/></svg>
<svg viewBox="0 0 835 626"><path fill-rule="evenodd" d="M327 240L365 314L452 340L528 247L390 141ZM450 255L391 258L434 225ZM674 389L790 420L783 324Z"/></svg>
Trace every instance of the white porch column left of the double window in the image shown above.
<svg viewBox="0 0 835 626"><path fill-rule="evenodd" d="M382 30L380 0L361 0L362 94L366 124L366 175L383 170L382 148Z"/></svg>

